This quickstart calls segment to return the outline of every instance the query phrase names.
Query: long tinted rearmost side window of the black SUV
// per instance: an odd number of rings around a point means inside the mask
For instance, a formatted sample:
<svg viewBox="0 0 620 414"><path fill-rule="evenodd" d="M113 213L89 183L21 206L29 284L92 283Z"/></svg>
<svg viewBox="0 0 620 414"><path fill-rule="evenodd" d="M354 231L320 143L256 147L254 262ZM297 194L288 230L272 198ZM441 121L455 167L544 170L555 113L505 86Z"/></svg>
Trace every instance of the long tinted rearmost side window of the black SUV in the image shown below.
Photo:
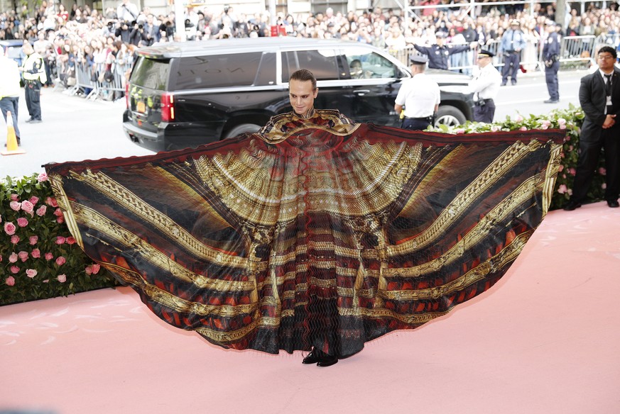
<svg viewBox="0 0 620 414"><path fill-rule="evenodd" d="M263 52L181 57L171 89L254 85Z"/></svg>

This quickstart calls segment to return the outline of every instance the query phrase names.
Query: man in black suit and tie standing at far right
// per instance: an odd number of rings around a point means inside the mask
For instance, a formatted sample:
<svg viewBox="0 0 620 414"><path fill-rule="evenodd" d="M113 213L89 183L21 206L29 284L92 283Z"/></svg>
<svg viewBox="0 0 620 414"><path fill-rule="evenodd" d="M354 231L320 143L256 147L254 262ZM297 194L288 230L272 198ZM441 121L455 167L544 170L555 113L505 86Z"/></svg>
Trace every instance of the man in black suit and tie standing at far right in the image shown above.
<svg viewBox="0 0 620 414"><path fill-rule="evenodd" d="M577 173L572 186L572 196L565 210L581 207L601 149L605 154L605 199L609 207L618 207L620 193L620 69L614 66L616 50L601 47L597 54L599 70L582 77L579 101L585 114L579 142Z"/></svg>

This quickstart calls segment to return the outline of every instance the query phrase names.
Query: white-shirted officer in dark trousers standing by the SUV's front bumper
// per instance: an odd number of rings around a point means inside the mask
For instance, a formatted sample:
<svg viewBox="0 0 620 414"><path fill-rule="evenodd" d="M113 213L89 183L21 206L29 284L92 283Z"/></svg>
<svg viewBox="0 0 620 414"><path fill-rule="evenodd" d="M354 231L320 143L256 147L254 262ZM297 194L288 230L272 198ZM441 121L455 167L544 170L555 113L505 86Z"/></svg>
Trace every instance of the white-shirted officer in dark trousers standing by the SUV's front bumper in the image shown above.
<svg viewBox="0 0 620 414"><path fill-rule="evenodd" d="M491 63L493 53L488 50L478 52L478 67L469 81L469 89L474 93L474 121L493 122L495 116L494 98L499 93L501 75Z"/></svg>

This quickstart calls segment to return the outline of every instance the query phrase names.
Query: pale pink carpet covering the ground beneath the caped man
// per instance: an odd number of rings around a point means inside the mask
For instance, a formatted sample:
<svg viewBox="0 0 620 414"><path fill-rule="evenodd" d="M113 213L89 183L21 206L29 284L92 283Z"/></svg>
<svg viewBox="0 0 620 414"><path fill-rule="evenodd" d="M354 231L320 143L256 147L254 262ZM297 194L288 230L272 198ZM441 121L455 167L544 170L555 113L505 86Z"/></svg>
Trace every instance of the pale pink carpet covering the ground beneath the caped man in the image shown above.
<svg viewBox="0 0 620 414"><path fill-rule="evenodd" d="M334 367L227 351L129 288L0 307L0 413L620 413L620 209L552 211L504 279ZM4 411L4 412L6 412Z"/></svg>

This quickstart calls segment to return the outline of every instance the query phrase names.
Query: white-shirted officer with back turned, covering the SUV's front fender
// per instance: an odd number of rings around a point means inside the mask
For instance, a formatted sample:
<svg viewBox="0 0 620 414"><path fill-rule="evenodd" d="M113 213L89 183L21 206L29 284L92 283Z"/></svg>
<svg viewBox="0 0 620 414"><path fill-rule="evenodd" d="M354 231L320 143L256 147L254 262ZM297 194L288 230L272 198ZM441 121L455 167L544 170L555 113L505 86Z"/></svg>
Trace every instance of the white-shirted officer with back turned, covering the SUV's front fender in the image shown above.
<svg viewBox="0 0 620 414"><path fill-rule="evenodd" d="M424 73L427 57L413 56L410 61L413 77L404 81L398 90L394 109L396 113L401 113L403 106L405 108L401 128L425 130L433 123L434 114L439 108L439 85Z"/></svg>

